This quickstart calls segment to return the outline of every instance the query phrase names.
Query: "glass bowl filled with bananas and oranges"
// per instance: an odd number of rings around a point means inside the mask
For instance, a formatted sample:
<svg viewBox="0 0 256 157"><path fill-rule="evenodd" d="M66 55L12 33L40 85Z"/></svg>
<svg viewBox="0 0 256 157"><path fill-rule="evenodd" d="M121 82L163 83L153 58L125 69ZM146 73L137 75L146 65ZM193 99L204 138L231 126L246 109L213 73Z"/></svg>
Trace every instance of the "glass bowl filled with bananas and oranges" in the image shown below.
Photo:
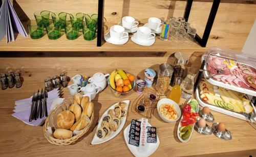
<svg viewBox="0 0 256 157"><path fill-rule="evenodd" d="M126 98L135 87L135 76L123 70L114 70L108 78L108 84L115 97Z"/></svg>

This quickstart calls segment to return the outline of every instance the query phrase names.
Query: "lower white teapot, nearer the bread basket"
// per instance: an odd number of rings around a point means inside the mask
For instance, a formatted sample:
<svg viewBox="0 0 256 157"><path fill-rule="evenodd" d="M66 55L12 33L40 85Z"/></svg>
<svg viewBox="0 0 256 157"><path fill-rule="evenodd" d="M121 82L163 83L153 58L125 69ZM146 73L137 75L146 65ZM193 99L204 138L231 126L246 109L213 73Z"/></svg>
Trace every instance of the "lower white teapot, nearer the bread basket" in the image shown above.
<svg viewBox="0 0 256 157"><path fill-rule="evenodd" d="M83 95L89 96L93 100L100 92L101 87L95 86L95 84L87 84L85 87L81 87L78 92L82 91Z"/></svg>

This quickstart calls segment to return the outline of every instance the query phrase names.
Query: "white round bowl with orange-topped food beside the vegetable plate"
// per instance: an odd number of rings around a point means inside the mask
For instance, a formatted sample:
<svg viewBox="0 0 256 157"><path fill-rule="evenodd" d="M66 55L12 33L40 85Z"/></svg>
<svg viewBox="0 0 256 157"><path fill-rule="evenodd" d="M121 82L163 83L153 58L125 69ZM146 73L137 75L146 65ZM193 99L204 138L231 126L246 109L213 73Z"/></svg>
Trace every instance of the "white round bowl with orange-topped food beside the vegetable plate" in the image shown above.
<svg viewBox="0 0 256 157"><path fill-rule="evenodd" d="M176 122L180 119L181 110L179 105L167 98L163 98L157 103L157 113L167 123Z"/></svg>

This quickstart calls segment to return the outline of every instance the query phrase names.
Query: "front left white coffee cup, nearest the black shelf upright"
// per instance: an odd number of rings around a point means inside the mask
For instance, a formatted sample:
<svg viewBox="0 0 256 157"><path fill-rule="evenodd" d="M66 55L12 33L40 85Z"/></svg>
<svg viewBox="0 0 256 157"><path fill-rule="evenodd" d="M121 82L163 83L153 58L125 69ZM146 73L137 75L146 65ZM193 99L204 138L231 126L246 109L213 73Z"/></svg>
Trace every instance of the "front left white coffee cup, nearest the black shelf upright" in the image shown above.
<svg viewBox="0 0 256 157"><path fill-rule="evenodd" d="M129 34L125 32L125 29L122 26L114 25L110 28L110 37L114 40L121 40L129 37Z"/></svg>

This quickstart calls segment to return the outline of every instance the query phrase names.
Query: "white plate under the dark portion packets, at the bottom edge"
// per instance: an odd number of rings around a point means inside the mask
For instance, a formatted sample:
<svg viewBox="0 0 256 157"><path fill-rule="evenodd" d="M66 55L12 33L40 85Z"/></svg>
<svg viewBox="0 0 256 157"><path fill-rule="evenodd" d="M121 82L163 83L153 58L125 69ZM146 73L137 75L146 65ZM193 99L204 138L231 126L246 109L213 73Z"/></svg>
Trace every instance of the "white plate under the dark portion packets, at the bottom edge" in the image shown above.
<svg viewBox="0 0 256 157"><path fill-rule="evenodd" d="M139 120L141 121L141 120ZM151 126L150 123L147 123L148 126ZM147 143L148 147L147 147L147 152L146 153L141 153L139 152L139 147L136 147L134 145L131 145L129 144L129 131L130 131L130 127L131 127L131 124L129 124L124 130L123 130L123 136L124 136L124 140L126 142L126 145L128 146L128 148L130 149L130 151L133 153L134 156L150 156L152 155L156 150L157 148L159 147L160 145L160 141L159 141L159 138L157 136L157 143Z"/></svg>

